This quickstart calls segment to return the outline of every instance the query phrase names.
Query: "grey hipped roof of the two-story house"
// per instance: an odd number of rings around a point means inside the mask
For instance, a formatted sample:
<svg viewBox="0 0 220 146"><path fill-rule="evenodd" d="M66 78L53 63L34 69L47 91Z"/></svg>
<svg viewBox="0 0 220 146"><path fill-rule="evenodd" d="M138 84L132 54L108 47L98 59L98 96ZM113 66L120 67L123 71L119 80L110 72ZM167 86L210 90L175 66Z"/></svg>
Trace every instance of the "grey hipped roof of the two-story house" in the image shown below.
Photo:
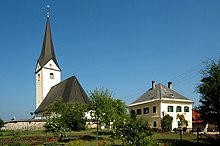
<svg viewBox="0 0 220 146"><path fill-rule="evenodd" d="M174 90L162 85L157 84L155 85L155 88L149 89L147 92L145 92L143 95L141 95L138 99L136 99L132 104L138 104L141 102L150 101L153 99L180 99L180 100L189 100L190 99L184 97L183 95L175 92Z"/></svg>

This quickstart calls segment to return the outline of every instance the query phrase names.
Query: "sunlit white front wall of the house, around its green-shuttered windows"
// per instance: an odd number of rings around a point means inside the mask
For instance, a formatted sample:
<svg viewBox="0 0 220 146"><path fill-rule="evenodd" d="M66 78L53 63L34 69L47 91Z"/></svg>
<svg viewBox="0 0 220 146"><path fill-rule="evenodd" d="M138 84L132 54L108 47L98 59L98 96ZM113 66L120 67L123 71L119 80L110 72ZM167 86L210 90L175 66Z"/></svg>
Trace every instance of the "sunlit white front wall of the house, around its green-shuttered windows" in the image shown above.
<svg viewBox="0 0 220 146"><path fill-rule="evenodd" d="M173 112L168 112L168 106L173 106ZM176 107L181 106L181 112L176 112ZM184 106L189 107L189 112L184 112ZM178 121L179 119L176 119L177 114L184 115L185 120L188 121L187 128L192 128L192 103L185 103L185 102L162 102L161 103L161 118L164 115L169 114L173 117L173 123L172 123L172 129L178 128Z"/></svg>

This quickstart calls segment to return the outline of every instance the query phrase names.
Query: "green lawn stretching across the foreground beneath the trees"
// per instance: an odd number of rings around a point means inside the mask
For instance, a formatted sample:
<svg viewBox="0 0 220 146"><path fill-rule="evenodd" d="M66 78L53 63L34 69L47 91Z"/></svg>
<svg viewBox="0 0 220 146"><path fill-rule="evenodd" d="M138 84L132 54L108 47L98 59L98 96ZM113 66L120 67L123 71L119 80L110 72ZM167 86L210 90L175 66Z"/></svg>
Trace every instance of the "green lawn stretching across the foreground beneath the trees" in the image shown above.
<svg viewBox="0 0 220 146"><path fill-rule="evenodd" d="M18 141L24 146L28 145L42 145L49 142L53 142L54 139L52 134L45 133L43 131L2 131L0 132L0 145L9 145L13 141ZM151 137L149 137L151 146L205 146L205 145L215 145L216 142L209 138L204 138L199 140L197 143L195 134L184 134L182 140L180 140L180 135L174 133L156 133L154 132ZM70 145L70 146L122 146L122 142L119 139L111 139L110 135L106 131L101 131L99 133L98 140L96 140L95 129L71 132L67 133L66 137L62 139L60 145Z"/></svg>

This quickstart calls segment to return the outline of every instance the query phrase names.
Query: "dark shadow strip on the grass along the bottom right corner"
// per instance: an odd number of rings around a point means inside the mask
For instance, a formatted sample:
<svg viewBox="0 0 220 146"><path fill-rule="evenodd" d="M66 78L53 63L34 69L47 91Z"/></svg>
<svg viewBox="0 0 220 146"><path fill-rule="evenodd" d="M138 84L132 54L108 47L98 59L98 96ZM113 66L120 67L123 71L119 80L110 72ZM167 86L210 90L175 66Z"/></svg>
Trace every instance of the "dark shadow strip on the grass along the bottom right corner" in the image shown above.
<svg viewBox="0 0 220 146"><path fill-rule="evenodd" d="M175 140L175 139L157 139L158 143L172 145L172 146L216 146L219 144L219 139L200 140L193 142L189 140Z"/></svg>

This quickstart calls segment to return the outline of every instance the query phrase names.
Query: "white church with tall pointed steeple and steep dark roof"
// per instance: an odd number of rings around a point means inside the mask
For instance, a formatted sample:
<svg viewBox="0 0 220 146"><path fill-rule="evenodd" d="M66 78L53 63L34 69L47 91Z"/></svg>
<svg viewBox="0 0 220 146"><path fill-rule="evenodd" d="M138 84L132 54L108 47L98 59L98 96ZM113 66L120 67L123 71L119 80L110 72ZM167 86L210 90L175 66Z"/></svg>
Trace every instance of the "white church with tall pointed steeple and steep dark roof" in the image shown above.
<svg viewBox="0 0 220 146"><path fill-rule="evenodd" d="M42 118L42 113L57 98L65 103L90 104L90 100L76 76L61 81L61 68L56 59L47 15L46 29L40 56L35 69L36 76L36 110L35 118Z"/></svg>

